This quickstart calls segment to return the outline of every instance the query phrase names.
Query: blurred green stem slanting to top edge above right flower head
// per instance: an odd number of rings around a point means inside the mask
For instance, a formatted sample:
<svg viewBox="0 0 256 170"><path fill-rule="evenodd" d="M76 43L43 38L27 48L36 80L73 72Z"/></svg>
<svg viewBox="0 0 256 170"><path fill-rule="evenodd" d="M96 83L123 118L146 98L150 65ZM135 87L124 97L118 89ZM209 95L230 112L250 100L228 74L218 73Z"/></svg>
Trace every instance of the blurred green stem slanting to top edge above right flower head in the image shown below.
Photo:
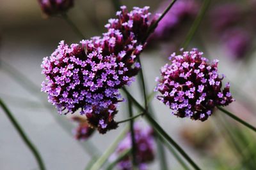
<svg viewBox="0 0 256 170"><path fill-rule="evenodd" d="M195 36L196 30L198 29L202 19L204 18L205 12L209 7L211 0L205 0L198 16L196 17L195 21L193 22L191 29L189 29L188 35L186 36L186 40L182 43L181 48L187 48L193 36Z"/></svg>

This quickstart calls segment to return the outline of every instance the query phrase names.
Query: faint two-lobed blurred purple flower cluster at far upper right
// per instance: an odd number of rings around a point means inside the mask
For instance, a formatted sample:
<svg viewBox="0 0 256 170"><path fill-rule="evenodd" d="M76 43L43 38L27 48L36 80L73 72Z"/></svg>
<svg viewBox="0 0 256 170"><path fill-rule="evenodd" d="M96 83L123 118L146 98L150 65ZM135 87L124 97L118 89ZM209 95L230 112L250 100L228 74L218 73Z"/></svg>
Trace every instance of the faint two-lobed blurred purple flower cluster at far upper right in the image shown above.
<svg viewBox="0 0 256 170"><path fill-rule="evenodd" d="M243 58L252 43L250 31L243 25L245 14L243 8L236 3L220 4L211 11L214 32L220 37L231 57L236 59Z"/></svg>

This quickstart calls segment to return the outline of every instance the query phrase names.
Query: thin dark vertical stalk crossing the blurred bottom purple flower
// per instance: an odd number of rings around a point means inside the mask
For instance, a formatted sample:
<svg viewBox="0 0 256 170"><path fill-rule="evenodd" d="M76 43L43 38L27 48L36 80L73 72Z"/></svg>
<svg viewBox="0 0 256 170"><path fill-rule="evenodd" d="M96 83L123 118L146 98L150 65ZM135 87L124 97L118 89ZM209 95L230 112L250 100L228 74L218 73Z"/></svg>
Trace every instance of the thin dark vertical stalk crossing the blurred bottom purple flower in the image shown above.
<svg viewBox="0 0 256 170"><path fill-rule="evenodd" d="M129 117L133 117L133 111L132 111L132 101L131 99L128 99L128 111L129 111ZM135 134L134 134L134 119L130 120L130 132L131 132L131 141L132 141L132 166L137 166L136 161L136 141L135 141Z"/></svg>

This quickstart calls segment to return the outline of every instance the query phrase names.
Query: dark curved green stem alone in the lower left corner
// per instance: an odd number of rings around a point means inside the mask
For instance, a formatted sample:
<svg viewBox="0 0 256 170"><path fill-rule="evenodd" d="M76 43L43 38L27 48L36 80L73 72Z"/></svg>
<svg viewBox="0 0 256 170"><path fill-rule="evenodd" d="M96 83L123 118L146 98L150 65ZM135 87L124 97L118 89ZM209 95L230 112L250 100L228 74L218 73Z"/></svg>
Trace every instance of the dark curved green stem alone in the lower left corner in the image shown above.
<svg viewBox="0 0 256 170"><path fill-rule="evenodd" d="M24 143L26 143L26 145L28 146L29 150L31 150L31 152L33 153L38 166L40 167L41 170L45 170L45 166L44 166L44 162L40 156L40 153L36 150L35 145L33 145L33 143L29 140L28 136L26 135L26 133L22 130L22 127L20 127L19 123L15 120L15 118L13 117L11 111L7 108L6 104L4 104L4 102L2 101L2 99L0 99L0 105L4 110L4 113L6 113L6 116L9 118L9 120L12 122L13 126L15 127L15 129L18 131L20 137L22 138L22 140L24 141Z"/></svg>

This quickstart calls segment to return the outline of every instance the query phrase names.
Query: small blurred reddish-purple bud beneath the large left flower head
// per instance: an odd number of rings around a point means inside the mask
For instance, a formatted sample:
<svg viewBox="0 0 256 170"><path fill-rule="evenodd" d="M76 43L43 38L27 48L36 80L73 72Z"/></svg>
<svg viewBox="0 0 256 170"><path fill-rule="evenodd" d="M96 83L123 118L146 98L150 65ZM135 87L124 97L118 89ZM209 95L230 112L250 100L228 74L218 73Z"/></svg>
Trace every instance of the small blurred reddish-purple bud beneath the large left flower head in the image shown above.
<svg viewBox="0 0 256 170"><path fill-rule="evenodd" d="M78 123L77 128L74 129L75 138L77 140L86 140L92 136L95 130L90 127L86 118L75 116L72 117L72 120Z"/></svg>

